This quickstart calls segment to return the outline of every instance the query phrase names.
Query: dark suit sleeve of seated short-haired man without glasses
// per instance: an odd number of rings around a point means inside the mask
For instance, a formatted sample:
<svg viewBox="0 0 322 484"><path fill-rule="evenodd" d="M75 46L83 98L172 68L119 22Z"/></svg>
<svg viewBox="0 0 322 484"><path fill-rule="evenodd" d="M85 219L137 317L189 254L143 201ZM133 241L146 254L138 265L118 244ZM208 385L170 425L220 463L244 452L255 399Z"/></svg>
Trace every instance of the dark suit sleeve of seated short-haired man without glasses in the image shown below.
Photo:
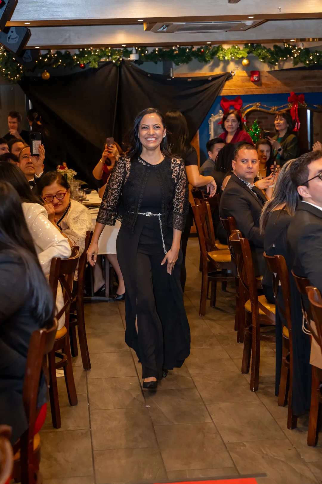
<svg viewBox="0 0 322 484"><path fill-rule="evenodd" d="M228 189L227 187L225 188L225 196L222 196L221 200L221 217L235 217L236 226L243 237L252 241L256 247L264 247L264 236L260 234L259 228L255 227L250 202L243 196L241 190L245 191L238 186L230 186Z"/></svg>

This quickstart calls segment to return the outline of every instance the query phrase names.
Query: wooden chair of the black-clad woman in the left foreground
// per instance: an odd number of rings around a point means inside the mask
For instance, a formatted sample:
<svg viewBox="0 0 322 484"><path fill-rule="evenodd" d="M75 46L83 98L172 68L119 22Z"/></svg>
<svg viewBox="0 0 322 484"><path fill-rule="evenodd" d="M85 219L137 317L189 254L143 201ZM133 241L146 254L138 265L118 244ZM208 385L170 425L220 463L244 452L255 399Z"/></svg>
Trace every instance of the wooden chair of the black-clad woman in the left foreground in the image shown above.
<svg viewBox="0 0 322 484"><path fill-rule="evenodd" d="M39 413L37 399L39 381L43 371L48 381L47 355L52 352L57 331L57 320L54 319L52 328L36 330L32 333L27 354L23 401L26 411L28 429L14 444L14 469L12 477L21 484L42 483L39 473L40 463L40 435L34 435L35 423Z"/></svg>

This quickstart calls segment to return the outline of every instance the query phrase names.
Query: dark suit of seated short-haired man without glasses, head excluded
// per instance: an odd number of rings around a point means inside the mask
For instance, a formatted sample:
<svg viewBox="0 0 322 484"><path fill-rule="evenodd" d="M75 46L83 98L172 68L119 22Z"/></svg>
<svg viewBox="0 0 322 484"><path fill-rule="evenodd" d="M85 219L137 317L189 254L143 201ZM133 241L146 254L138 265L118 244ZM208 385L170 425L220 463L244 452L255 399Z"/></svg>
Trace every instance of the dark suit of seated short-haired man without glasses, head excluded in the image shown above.
<svg viewBox="0 0 322 484"><path fill-rule="evenodd" d="M264 236L259 232L259 218L266 197L256 186L250 190L234 173L220 198L219 213L222 218L234 217L236 227L251 246L255 275L266 272ZM258 196L256 196L256 194Z"/></svg>

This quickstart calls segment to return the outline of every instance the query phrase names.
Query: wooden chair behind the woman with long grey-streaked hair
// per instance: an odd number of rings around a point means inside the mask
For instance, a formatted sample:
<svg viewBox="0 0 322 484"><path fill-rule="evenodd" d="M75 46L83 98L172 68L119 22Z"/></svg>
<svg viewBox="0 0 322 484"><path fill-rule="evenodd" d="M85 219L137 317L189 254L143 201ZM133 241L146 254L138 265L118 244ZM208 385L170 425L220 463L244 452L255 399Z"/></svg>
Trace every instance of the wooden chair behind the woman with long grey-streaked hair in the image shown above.
<svg viewBox="0 0 322 484"><path fill-rule="evenodd" d="M275 302L278 305L280 314L286 320L287 326L282 328L282 367L280 372L280 389L278 405L285 407L288 400L287 428L296 428L297 417L292 410L292 389L293 389L293 343L292 343L292 304L289 272L283 256L266 256L264 258L268 270L272 272L273 291ZM282 291L284 307L279 303L278 290Z"/></svg>

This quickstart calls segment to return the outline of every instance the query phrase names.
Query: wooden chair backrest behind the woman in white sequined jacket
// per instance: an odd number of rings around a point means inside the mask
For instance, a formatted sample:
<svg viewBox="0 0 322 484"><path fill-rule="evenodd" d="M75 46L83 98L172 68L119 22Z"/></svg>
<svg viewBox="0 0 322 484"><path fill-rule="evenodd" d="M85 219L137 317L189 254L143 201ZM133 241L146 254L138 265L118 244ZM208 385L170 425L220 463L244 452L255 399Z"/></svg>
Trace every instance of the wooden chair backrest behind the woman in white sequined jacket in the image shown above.
<svg viewBox="0 0 322 484"><path fill-rule="evenodd" d="M72 301L71 291L78 261L79 251L76 247L72 247L71 256L68 259L54 257L50 265L49 285L53 291L55 306L58 283L62 285L64 295L64 305L56 314L56 318L59 320L65 313L65 326L67 327L69 324L70 303Z"/></svg>

